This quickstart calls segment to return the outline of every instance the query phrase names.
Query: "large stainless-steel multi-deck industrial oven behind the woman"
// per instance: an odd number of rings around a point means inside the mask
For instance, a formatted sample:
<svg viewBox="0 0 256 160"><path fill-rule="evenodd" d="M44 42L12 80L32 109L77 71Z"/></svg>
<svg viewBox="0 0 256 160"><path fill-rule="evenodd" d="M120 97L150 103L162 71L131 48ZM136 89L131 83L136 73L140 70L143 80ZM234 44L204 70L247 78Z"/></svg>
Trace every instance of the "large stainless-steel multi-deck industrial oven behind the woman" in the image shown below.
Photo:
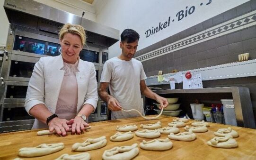
<svg viewBox="0 0 256 160"><path fill-rule="evenodd" d="M0 72L0 132L32 128L34 118L24 108L27 85L40 57L60 55L58 31L63 24L86 29L87 45L79 56L95 65L98 84L108 47L119 40L118 30L34 0L5 0L4 9L10 24ZM89 116L89 121L99 120L107 120L107 104L102 100Z"/></svg>

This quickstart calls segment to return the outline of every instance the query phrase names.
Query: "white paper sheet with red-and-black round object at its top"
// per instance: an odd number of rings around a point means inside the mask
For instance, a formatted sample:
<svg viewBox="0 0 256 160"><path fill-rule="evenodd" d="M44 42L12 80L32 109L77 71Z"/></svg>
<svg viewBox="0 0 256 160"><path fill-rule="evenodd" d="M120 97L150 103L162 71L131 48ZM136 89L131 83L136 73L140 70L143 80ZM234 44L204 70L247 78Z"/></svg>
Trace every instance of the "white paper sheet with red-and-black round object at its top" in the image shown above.
<svg viewBox="0 0 256 160"><path fill-rule="evenodd" d="M183 78L183 89L203 88L201 73L192 74L192 77L190 79L185 78L185 75L183 75L182 78Z"/></svg>

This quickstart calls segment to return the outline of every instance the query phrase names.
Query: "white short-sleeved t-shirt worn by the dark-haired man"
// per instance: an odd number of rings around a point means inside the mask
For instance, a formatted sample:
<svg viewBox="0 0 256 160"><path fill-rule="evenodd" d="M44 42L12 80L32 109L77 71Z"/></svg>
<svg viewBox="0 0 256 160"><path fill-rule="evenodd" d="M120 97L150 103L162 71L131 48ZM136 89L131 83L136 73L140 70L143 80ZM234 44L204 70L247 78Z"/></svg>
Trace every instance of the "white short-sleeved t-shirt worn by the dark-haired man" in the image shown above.
<svg viewBox="0 0 256 160"><path fill-rule="evenodd" d="M109 83L110 95L117 99L124 110L136 109L145 115L141 100L140 82L146 78L140 61L134 58L130 61L124 61L118 57L113 57L105 62L100 82ZM134 111L112 111L111 119L138 116L140 115Z"/></svg>

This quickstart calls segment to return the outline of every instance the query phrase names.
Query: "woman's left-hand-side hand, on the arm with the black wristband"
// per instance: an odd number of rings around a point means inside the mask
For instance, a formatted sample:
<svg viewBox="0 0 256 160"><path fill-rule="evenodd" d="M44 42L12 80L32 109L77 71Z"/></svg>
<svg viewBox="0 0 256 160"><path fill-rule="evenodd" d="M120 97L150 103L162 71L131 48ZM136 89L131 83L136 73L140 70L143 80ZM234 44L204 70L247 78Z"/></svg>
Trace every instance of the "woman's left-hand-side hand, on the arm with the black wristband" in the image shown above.
<svg viewBox="0 0 256 160"><path fill-rule="evenodd" d="M50 132L53 132L53 130L55 130L58 135L66 136L67 132L71 131L71 124L73 124L73 122L74 119L65 120L55 117L48 123L48 126Z"/></svg>

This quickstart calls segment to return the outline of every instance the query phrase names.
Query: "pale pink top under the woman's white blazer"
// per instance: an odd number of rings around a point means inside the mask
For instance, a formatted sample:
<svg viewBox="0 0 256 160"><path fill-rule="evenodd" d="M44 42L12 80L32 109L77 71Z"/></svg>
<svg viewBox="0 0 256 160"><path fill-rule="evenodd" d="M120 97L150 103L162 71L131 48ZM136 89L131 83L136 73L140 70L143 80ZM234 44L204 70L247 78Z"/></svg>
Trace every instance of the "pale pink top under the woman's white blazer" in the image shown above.
<svg viewBox="0 0 256 160"><path fill-rule="evenodd" d="M78 72L78 61L75 64L63 63L64 66L61 70L64 70L65 73L55 113L59 118L71 120L77 114L78 86L76 72Z"/></svg>

